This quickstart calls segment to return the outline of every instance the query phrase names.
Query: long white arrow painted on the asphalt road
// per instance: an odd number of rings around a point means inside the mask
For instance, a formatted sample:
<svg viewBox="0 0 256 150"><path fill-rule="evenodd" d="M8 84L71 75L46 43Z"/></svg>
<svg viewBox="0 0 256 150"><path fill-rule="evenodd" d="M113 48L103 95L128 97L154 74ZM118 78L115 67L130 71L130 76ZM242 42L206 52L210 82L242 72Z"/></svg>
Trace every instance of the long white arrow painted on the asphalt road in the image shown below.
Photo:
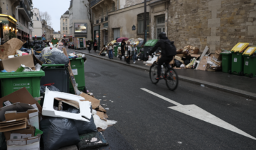
<svg viewBox="0 0 256 150"><path fill-rule="evenodd" d="M203 110L202 108L199 108L196 105L181 105L180 103L175 102L174 100L170 100L169 98L166 98L164 96L160 96L157 93L154 93L152 91L147 90L146 88L141 88L143 91L146 91L148 93L151 93L154 96L157 96L163 100L168 101L169 103L173 103L174 105L177 106L173 106L173 107L169 107L172 110L176 110L180 113L189 115L191 117L196 117L198 120L203 120L205 122L208 122L210 124L216 125L218 127L223 127L224 129L228 129L232 132L241 134L245 137L250 137L251 139L255 139L255 137L252 137L250 134L247 134L245 132L243 132L241 129L238 129L237 127L229 124L228 122L225 122L223 120L221 120L220 118L216 117L215 115L212 115L210 113L208 113L206 110Z"/></svg>

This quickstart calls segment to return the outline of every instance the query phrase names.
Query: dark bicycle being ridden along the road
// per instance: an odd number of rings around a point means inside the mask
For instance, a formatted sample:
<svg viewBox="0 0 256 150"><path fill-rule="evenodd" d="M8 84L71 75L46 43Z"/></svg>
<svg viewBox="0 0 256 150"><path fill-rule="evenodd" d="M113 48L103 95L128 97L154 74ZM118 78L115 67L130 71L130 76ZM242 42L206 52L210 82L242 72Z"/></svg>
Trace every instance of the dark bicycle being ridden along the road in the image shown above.
<svg viewBox="0 0 256 150"><path fill-rule="evenodd" d="M156 55L156 54L155 54ZM159 59L160 55L156 55ZM149 69L149 78L152 83L156 84L158 83L161 79L156 80L157 76L157 62L154 62L152 66ZM163 76L163 79L166 81L166 86L169 88L169 90L174 91L178 87L178 74L173 68L168 69L166 64L163 64L161 66L163 69L161 69L161 76Z"/></svg>

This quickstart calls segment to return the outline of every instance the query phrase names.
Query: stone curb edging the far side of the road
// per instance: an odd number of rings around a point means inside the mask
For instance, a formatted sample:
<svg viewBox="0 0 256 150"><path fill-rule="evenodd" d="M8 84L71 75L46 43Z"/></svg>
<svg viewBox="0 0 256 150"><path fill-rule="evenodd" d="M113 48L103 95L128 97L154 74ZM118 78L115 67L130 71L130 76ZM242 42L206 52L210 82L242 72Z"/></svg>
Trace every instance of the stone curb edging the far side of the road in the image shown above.
<svg viewBox="0 0 256 150"><path fill-rule="evenodd" d="M75 50L75 52L80 52L80 51ZM85 52L80 52L80 53L87 54L91 57L105 59L104 57L95 56L94 54L88 54L88 53L85 53ZM142 69L142 70L149 71L149 68L147 68L147 67L141 67L141 66L137 66L137 65L134 65L134 64L126 64L126 63L119 62L117 60L112 60L112 59L105 59L105 60L110 61L110 62L116 62L118 64L123 64L123 65L129 66L129 67L134 67L134 68L137 68L137 69ZM256 100L256 93L250 93L250 92L247 92L247 91L239 90L237 88L230 88L228 86L221 86L220 84L210 83L208 81L201 81L201 80L198 80L198 79L192 79L192 78L189 78L189 77L186 77L186 76L181 76L181 75L178 75L178 79L180 79L181 81L195 83L195 84L198 84L198 85L203 84L205 86L208 86L209 88L214 88L214 89L217 89L217 90L220 90L220 91L225 91L227 93L235 94L237 96L242 96L242 97L245 97L245 98L250 98L250 99Z"/></svg>

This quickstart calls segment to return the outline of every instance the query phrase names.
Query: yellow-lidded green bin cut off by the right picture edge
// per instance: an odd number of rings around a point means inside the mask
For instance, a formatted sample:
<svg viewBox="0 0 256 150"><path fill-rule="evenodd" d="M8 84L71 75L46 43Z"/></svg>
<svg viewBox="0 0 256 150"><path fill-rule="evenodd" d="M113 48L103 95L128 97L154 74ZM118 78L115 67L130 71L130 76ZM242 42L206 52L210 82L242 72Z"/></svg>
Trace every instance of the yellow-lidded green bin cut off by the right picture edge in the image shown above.
<svg viewBox="0 0 256 150"><path fill-rule="evenodd" d="M242 54L244 57L244 69L245 76L250 78L255 77L256 74L256 47L248 47Z"/></svg>

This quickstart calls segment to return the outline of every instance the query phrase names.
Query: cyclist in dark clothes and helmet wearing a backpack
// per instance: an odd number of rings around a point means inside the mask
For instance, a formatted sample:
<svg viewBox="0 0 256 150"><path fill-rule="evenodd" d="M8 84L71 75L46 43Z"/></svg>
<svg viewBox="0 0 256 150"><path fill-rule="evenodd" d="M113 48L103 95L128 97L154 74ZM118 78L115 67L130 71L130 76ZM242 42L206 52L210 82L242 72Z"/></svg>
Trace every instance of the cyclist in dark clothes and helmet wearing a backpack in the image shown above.
<svg viewBox="0 0 256 150"><path fill-rule="evenodd" d="M174 42L170 41L166 37L166 33L164 32L160 33L159 37L160 37L160 40L156 42L156 45L149 52L149 54L152 54L158 49L158 47L161 47L161 58L157 62L158 66L157 66L156 80L161 79L161 65L165 63L168 69L170 69L169 63L176 55L176 47L174 45Z"/></svg>

